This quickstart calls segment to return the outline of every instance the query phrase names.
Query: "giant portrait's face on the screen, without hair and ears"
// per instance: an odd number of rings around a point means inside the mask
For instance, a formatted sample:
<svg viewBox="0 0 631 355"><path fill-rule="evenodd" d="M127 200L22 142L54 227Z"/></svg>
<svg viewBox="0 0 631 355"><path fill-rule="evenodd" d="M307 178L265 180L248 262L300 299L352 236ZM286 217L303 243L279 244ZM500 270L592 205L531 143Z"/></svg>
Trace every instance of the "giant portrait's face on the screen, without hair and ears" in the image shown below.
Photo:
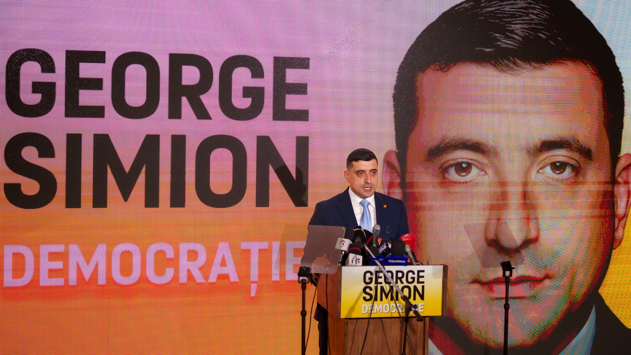
<svg viewBox="0 0 631 355"><path fill-rule="evenodd" d="M449 315L479 344L502 346L505 292L499 263L480 258L525 259L510 286L511 346L547 337L604 272L615 219L600 88L576 63L417 77L410 227L421 260L449 265Z"/></svg>

